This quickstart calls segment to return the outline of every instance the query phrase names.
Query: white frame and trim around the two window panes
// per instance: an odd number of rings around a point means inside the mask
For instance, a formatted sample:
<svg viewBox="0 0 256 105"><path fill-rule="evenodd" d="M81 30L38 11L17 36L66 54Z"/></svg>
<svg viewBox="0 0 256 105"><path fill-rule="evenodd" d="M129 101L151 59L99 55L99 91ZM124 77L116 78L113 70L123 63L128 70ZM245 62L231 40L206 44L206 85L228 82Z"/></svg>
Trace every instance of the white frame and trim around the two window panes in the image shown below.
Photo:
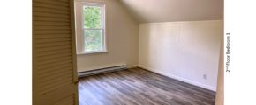
<svg viewBox="0 0 256 105"><path fill-rule="evenodd" d="M96 6L102 9L102 28L85 29L84 28L84 6ZM108 52L106 45L106 4L103 3L76 3L76 41L77 41L77 54L91 54L99 52ZM100 51L85 51L85 30L102 30L102 50Z"/></svg>

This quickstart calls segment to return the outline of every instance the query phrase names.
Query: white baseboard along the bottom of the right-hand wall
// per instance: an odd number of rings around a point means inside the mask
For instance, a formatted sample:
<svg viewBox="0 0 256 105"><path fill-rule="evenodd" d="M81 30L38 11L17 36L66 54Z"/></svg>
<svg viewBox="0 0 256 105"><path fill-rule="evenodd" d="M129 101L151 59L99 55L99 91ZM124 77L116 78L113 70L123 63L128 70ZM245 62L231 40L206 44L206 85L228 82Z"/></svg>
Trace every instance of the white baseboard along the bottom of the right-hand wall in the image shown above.
<svg viewBox="0 0 256 105"><path fill-rule="evenodd" d="M200 88L206 88L206 89L209 89L209 90L212 90L212 91L216 91L216 88L215 87L212 87L212 86L208 86L208 85L205 85L205 84L202 84L200 82L197 82L197 81L191 81L191 80L188 80L188 79L184 79L182 77L178 77L174 74L170 74L170 73L163 73L161 71L158 71L158 70L154 70L150 67L147 67L147 66L142 66L142 65L139 65L139 67L141 68L144 68L148 71L151 71L151 72L154 72L154 73L159 73L159 74L162 74L164 76L167 76L169 78L172 78L172 79L175 79L175 80L178 80L178 81L184 81L186 83L189 83L189 84L192 84L192 85L195 85L195 86L198 86Z"/></svg>

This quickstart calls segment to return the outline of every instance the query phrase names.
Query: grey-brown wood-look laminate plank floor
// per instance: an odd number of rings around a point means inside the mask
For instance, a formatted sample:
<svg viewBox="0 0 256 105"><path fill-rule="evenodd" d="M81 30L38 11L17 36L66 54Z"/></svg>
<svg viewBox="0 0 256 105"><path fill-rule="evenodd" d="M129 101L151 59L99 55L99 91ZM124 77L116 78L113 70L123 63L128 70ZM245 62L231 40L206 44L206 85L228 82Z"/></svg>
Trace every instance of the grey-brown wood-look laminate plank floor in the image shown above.
<svg viewBox="0 0 256 105"><path fill-rule="evenodd" d="M133 68L79 79L79 105L214 105L215 92Z"/></svg>

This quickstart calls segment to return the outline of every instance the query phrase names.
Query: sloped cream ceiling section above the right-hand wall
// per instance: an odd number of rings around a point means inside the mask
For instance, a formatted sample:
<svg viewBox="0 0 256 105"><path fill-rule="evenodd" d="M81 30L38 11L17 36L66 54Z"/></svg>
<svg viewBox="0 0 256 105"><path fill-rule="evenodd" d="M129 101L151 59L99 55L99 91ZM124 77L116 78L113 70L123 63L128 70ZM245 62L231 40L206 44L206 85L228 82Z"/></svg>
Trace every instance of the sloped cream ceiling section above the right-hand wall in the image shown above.
<svg viewBox="0 0 256 105"><path fill-rule="evenodd" d="M216 20L223 0L120 0L139 23Z"/></svg>

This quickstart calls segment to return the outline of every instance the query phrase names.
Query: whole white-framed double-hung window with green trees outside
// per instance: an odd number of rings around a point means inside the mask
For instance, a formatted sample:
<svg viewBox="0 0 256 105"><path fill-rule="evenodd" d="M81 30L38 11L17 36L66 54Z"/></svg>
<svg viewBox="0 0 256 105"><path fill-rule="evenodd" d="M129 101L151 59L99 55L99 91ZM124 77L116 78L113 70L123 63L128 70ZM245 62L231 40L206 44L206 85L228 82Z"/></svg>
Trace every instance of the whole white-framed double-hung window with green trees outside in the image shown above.
<svg viewBox="0 0 256 105"><path fill-rule="evenodd" d="M105 4L76 4L77 52L107 52Z"/></svg>

